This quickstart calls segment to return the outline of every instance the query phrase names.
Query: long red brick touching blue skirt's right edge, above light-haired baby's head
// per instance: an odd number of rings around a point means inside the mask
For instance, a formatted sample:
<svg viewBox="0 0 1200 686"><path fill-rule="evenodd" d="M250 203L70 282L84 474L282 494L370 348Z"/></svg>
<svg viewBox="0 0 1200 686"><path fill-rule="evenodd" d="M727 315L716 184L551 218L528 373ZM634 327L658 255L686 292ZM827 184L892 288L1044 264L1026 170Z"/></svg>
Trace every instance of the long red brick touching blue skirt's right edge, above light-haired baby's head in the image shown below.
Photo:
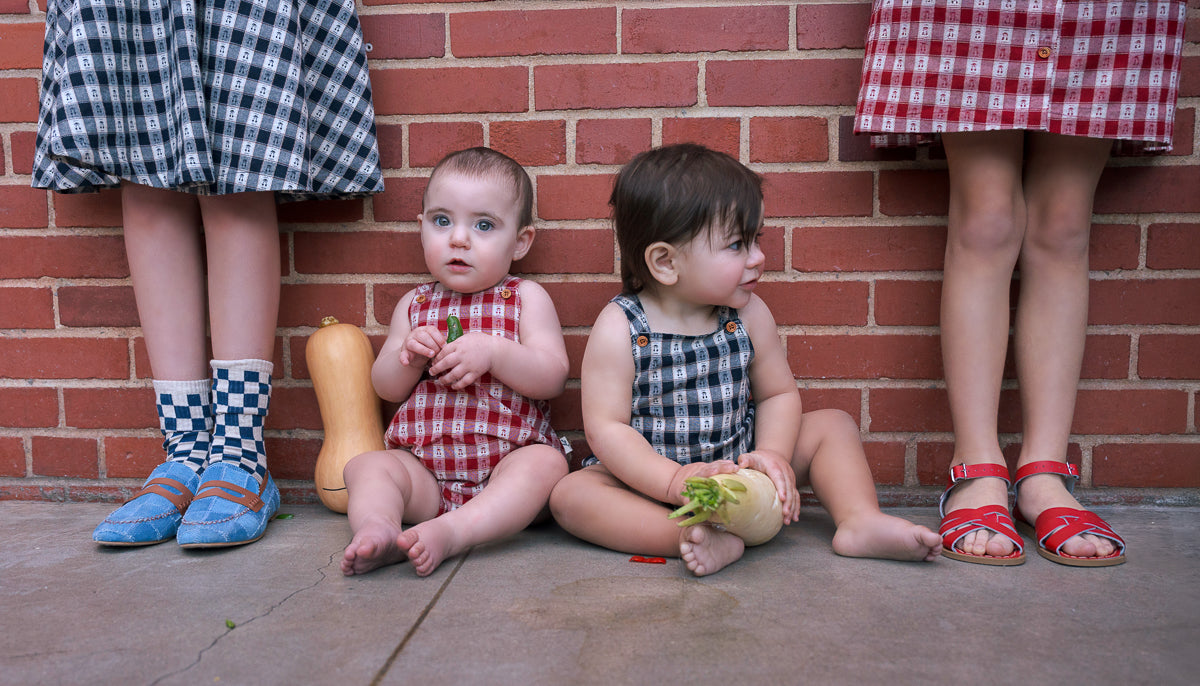
<svg viewBox="0 0 1200 686"><path fill-rule="evenodd" d="M529 70L526 67L373 68L371 83L379 115L524 112L529 108Z"/></svg>

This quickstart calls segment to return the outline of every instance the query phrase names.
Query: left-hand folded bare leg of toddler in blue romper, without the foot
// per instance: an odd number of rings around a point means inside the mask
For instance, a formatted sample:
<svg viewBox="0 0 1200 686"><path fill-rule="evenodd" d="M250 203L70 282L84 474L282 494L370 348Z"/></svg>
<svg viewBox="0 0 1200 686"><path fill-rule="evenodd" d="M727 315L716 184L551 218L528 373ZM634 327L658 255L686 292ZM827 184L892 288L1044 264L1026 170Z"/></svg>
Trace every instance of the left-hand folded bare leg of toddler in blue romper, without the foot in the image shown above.
<svg viewBox="0 0 1200 686"><path fill-rule="evenodd" d="M667 519L671 510L630 491L604 465L563 477L550 497L550 510L559 526L611 550L679 555L680 530L677 519Z"/></svg>

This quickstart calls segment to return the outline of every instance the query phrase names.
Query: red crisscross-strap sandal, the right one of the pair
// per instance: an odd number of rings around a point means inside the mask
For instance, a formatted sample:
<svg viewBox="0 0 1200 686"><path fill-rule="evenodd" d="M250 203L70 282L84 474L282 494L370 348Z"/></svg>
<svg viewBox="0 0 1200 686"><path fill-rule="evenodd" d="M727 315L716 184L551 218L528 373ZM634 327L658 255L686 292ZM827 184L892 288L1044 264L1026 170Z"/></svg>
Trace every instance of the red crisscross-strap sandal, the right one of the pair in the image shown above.
<svg viewBox="0 0 1200 686"><path fill-rule="evenodd" d="M1021 480L1034 474L1057 474L1064 476L1063 482L1067 486L1068 493L1074 491L1075 482L1079 481L1079 468L1074 464L1052 459L1031 462L1016 470L1016 480L1013 482L1014 493L1020 486ZM1072 567L1111 567L1126 561L1124 538L1117 536L1108 522L1087 510L1049 507L1042 514L1038 514L1037 522L1032 525L1021 516L1020 510L1018 510L1016 520L1024 528L1033 530L1033 540L1038 543L1038 554L1052 562ZM1116 550L1111 555L1103 558L1076 558L1075 555L1063 553L1063 543L1080 534L1091 534L1108 538L1116 544Z"/></svg>

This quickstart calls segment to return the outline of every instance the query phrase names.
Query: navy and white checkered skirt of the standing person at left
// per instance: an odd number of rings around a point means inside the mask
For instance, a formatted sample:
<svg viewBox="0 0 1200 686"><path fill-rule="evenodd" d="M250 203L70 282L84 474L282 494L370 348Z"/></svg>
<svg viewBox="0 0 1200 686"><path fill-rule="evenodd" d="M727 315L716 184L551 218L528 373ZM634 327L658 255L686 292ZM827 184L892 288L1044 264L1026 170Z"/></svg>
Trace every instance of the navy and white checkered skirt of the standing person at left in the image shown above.
<svg viewBox="0 0 1200 686"><path fill-rule="evenodd" d="M34 186L383 191L353 0L49 0Z"/></svg>

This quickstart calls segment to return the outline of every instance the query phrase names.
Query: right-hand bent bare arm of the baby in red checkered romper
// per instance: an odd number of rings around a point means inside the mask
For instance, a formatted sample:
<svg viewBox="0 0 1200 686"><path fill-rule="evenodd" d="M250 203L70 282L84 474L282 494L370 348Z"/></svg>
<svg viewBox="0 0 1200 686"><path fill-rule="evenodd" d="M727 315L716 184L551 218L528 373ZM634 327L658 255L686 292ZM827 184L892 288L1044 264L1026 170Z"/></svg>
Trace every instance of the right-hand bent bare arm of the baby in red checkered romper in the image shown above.
<svg viewBox="0 0 1200 686"><path fill-rule="evenodd" d="M551 399L566 386L568 359L563 327L550 294L533 281L522 281L520 342L467 331L433 355L430 374L464 389L491 373L527 398Z"/></svg>

